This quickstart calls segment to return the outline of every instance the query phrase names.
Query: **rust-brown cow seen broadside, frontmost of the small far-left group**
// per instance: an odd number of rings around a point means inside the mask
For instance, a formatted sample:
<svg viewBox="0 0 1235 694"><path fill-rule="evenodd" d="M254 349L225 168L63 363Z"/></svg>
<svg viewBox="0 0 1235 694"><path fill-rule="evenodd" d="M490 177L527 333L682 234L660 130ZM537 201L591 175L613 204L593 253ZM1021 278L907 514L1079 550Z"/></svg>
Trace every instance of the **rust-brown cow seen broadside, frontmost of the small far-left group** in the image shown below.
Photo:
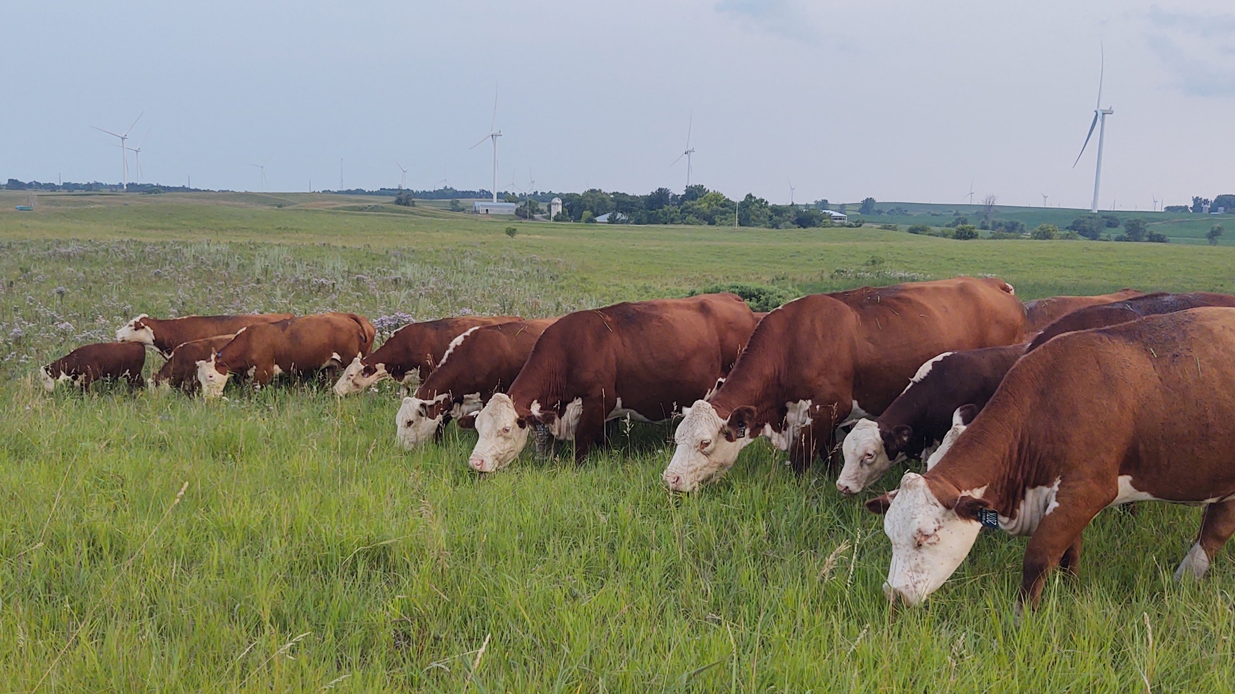
<svg viewBox="0 0 1235 694"><path fill-rule="evenodd" d="M350 357L373 348L373 324L356 314L317 314L246 327L210 359L198 362L206 398L222 395L227 378L243 373L261 388L287 373L308 375L341 368Z"/></svg>

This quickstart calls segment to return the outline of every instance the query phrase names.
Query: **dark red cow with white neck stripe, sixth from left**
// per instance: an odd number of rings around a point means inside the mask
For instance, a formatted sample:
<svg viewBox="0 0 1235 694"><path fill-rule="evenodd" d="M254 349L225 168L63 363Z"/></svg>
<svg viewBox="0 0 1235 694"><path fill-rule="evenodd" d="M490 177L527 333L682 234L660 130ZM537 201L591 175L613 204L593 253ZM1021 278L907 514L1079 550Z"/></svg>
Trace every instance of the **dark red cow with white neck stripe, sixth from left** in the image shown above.
<svg viewBox="0 0 1235 694"><path fill-rule="evenodd" d="M489 401L514 383L536 340L557 319L510 321L471 327L450 349L416 394L404 398L395 417L395 438L414 448L436 436L450 420L467 426Z"/></svg>

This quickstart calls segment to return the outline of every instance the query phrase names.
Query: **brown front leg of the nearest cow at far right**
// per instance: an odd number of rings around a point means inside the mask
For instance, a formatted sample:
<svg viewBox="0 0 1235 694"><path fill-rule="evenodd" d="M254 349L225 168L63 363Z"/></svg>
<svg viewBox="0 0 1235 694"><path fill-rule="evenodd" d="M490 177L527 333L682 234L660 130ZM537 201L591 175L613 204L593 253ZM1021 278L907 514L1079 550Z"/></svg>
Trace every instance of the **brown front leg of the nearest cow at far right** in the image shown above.
<svg viewBox="0 0 1235 694"><path fill-rule="evenodd" d="M1094 487L1062 489L1056 495L1058 506L1042 517L1025 547L1021 564L1020 598L1016 609L1029 604L1037 608L1042 598L1042 585L1046 574L1063 559L1066 553L1081 551L1081 532L1089 525L1098 511L1107 508L1116 495L1116 489ZM1070 557L1072 561L1072 557Z"/></svg>

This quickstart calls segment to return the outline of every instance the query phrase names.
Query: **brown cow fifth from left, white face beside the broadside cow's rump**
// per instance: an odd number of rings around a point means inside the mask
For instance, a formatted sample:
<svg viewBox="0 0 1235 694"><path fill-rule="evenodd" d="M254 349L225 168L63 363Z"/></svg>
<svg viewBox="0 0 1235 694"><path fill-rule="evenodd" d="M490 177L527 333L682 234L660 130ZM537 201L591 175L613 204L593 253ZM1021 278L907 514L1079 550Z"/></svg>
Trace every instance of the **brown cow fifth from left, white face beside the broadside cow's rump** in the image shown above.
<svg viewBox="0 0 1235 694"><path fill-rule="evenodd" d="M459 316L408 324L394 332L363 359L352 359L335 384L336 395L361 393L384 379L393 378L411 391L429 377L437 362L442 361L451 342L464 331L480 325L517 321L519 316Z"/></svg>

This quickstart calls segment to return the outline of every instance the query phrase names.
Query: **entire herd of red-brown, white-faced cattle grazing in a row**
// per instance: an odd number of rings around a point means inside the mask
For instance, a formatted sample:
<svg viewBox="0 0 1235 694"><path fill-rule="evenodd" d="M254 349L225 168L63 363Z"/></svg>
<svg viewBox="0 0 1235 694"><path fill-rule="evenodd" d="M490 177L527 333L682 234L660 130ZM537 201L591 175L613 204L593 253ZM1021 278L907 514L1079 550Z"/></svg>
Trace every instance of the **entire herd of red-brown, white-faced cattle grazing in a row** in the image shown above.
<svg viewBox="0 0 1235 694"><path fill-rule="evenodd" d="M757 438L794 470L840 451L836 487L871 485L894 462L926 461L867 501L884 514L889 600L918 604L983 527L1030 536L1020 604L1047 572L1076 571L1102 509L1204 504L1176 578L1200 577L1235 532L1235 296L1055 296L1021 303L994 278L815 294L756 314L732 294L624 303L557 319L464 316L410 324L373 349L354 314L141 315L116 342L41 370L44 388L100 378L143 385L147 349L167 362L149 388L222 395L280 374L337 375L340 396L403 385L408 448L453 420L477 430L468 466L494 472L532 435L582 459L605 422L680 416L662 475L689 493ZM836 442L840 441L839 446Z"/></svg>

